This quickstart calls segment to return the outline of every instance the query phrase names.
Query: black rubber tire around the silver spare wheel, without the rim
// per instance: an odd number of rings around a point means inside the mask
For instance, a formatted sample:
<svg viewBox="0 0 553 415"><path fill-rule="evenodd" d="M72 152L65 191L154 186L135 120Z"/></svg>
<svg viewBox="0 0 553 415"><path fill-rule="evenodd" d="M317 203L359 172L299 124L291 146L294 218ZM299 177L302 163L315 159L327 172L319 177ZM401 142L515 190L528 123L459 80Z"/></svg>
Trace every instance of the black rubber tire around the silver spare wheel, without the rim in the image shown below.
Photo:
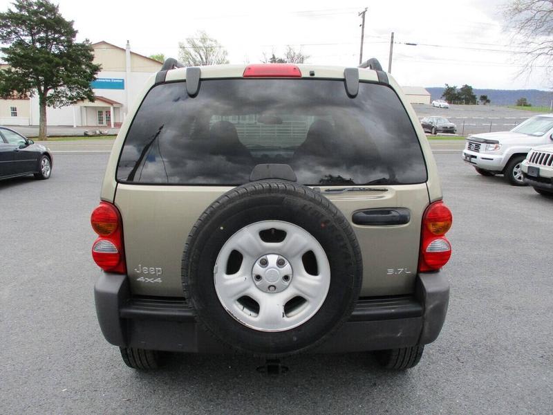
<svg viewBox="0 0 553 415"><path fill-rule="evenodd" d="M215 290L214 264L225 242L245 226L265 220L293 223L312 234L330 264L330 287L319 311L288 331L244 326L225 310ZM323 204L292 194L256 194L218 206L191 234L183 257L185 294L200 323L236 349L258 354L296 353L322 342L350 315L361 286L359 246L341 222ZM345 225L349 226L347 221Z"/></svg>

